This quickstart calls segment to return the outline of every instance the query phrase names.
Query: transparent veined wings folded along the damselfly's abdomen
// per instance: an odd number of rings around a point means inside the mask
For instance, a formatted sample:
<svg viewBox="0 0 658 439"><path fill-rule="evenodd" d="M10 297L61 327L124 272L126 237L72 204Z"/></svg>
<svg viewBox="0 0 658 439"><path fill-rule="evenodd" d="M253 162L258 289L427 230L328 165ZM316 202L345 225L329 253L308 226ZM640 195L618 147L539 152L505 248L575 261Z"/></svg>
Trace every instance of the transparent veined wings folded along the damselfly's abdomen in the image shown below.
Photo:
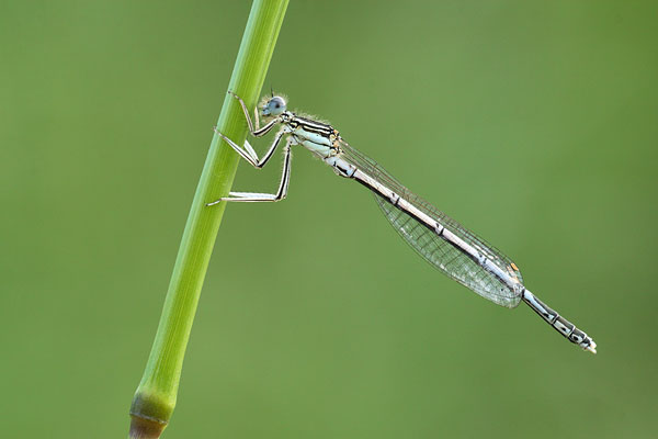
<svg viewBox="0 0 658 439"><path fill-rule="evenodd" d="M341 146L341 157L343 159L361 169L363 172L377 179L402 199L430 215L446 229L475 247L503 272L515 278L519 281L519 285L523 284L521 272L508 257L502 255L495 247L488 245L484 239L477 237L466 227L439 211L432 204L410 192L371 158L350 147L344 142ZM441 238L434 230L427 228L415 217L408 215L405 211L395 207L388 200L376 193L375 200L384 212L384 215L386 215L400 236L432 266L498 305L515 307L519 304L521 301L522 288L514 290L502 283L490 271L484 269L479 263L464 255L449 241Z"/></svg>

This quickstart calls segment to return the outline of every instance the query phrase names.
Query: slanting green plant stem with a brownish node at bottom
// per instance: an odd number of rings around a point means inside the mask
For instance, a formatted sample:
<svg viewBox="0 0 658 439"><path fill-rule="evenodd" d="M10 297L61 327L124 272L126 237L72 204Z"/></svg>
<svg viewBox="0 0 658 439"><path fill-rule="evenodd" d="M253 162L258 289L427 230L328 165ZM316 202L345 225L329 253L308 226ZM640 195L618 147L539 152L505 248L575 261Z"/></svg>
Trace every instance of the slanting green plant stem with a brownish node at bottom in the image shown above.
<svg viewBox="0 0 658 439"><path fill-rule="evenodd" d="M229 82L229 90L253 108L274 50L287 0L254 0ZM247 136L238 102L227 95L218 130L242 144ZM238 165L237 154L215 134L169 283L158 333L131 406L131 438L158 438L173 407L183 357L211 254L226 203L205 204L228 194Z"/></svg>

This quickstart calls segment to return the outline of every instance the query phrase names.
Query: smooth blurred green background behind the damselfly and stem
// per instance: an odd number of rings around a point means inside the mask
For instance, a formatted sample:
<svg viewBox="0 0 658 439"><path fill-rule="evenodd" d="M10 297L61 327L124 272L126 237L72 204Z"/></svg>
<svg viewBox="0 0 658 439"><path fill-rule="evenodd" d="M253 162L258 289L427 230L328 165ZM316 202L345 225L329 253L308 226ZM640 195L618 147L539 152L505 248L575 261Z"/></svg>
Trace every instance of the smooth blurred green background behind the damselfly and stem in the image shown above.
<svg viewBox="0 0 658 439"><path fill-rule="evenodd" d="M126 436L249 9L0 5L1 436ZM291 1L265 88L510 255L599 354L433 270L297 150L285 202L227 207L164 437L656 437L657 23Z"/></svg>

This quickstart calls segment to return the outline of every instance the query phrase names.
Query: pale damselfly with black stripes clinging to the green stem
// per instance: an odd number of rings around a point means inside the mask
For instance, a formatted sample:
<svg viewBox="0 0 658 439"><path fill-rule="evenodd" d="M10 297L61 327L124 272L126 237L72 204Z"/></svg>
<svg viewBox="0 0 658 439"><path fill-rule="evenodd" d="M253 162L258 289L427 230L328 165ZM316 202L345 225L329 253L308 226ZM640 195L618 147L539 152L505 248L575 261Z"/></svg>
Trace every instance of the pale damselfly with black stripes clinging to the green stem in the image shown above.
<svg viewBox="0 0 658 439"><path fill-rule="evenodd" d="M498 305L513 308L521 301L525 302L569 341L597 353L594 340L525 289L521 272L514 262L432 204L413 194L375 161L348 145L331 125L288 111L285 99L274 93L263 99L254 109L252 121L242 99L232 92L231 94L242 108L251 135L261 137L275 126L281 128L262 158L258 157L249 142L245 142L245 146L240 147L217 130L215 132L256 168L262 168L268 164L285 137L283 173L276 193L230 192L229 196L207 205L222 201L283 200L291 178L291 147L302 145L329 165L337 175L355 180L370 189L390 224L432 266ZM262 127L261 116L265 121Z"/></svg>

